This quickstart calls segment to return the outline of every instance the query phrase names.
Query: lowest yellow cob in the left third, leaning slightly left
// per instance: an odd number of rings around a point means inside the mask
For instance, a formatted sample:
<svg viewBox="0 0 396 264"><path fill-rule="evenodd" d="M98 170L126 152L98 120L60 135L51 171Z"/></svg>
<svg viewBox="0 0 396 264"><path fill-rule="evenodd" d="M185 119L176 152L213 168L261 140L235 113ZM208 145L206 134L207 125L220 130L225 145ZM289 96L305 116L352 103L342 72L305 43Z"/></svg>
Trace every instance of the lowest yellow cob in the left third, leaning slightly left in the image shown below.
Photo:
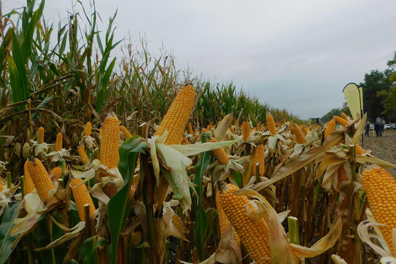
<svg viewBox="0 0 396 264"><path fill-rule="evenodd" d="M70 181L70 186L76 186L81 183L83 180L80 178L74 178ZM83 183L76 188L71 188L73 191L74 201L76 202L78 215L80 215L81 221L85 221L85 213L84 213L84 205L90 205L90 216L92 217L95 212L95 206L92 202L92 198L90 193L88 192L87 186Z"/></svg>

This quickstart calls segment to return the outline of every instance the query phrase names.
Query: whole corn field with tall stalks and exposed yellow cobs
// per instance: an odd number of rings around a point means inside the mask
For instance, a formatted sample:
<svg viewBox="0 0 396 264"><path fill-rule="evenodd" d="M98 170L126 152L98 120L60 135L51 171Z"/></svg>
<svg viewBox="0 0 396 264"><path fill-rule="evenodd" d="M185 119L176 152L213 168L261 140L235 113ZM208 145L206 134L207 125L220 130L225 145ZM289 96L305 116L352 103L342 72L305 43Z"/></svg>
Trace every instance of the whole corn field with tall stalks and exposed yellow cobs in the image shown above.
<svg viewBox="0 0 396 264"><path fill-rule="evenodd" d="M366 114L304 123L77 4L1 13L0 264L396 263Z"/></svg>

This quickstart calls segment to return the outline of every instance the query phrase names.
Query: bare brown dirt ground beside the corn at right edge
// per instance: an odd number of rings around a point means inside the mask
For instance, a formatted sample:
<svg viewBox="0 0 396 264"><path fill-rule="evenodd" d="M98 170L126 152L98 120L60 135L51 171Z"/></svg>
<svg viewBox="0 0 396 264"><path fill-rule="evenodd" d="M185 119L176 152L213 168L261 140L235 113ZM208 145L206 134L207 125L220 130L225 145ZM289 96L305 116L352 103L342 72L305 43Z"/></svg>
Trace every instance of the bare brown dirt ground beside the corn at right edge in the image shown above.
<svg viewBox="0 0 396 264"><path fill-rule="evenodd" d="M375 131L370 131L370 136L364 137L364 149L373 151L378 158L396 164L396 130L387 129L382 137L377 137ZM396 169L388 171L396 176Z"/></svg>

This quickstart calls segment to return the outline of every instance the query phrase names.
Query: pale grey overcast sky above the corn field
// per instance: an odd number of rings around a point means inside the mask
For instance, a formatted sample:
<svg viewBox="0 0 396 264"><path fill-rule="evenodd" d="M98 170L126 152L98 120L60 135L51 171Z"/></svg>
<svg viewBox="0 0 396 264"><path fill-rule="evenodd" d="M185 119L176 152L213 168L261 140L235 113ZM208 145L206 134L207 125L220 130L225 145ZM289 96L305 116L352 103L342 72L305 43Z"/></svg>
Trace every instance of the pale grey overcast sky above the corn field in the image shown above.
<svg viewBox="0 0 396 264"><path fill-rule="evenodd" d="M71 6L47 0L44 15L54 22ZM385 69L396 50L395 0L96 0L96 7L99 30L118 7L116 39L146 34L152 53L163 43L178 67L233 80L301 118L341 107L344 86Z"/></svg>

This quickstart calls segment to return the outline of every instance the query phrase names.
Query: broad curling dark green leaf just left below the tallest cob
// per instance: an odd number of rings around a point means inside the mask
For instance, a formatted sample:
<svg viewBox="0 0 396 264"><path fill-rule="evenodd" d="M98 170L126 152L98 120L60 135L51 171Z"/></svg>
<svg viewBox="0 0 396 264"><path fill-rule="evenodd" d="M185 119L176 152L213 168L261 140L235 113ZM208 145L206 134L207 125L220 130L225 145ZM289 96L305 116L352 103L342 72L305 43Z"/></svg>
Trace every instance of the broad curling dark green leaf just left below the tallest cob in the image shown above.
<svg viewBox="0 0 396 264"><path fill-rule="evenodd" d="M147 143L141 142L139 136L127 139L118 149L120 161L118 170L124 179L124 184L118 192L110 199L107 206L109 216L109 229L111 235L112 256L111 263L115 264L117 260L118 238L121 230L125 225L126 218L129 214L129 190L131 189L135 165L139 153L146 153Z"/></svg>

